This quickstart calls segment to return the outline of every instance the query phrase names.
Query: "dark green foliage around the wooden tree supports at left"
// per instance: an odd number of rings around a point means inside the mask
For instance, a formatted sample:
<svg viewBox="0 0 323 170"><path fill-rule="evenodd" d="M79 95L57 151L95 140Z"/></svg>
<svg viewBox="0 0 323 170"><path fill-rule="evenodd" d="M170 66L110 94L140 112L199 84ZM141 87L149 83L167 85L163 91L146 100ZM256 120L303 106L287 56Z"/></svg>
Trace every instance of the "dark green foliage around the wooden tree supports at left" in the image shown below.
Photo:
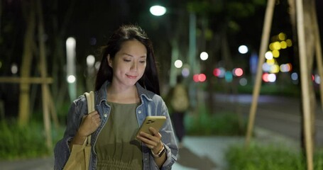
<svg viewBox="0 0 323 170"><path fill-rule="evenodd" d="M62 132L53 128L53 145ZM16 120L1 120L0 141L0 159L43 157L53 152L46 147L43 123L35 120L24 128L18 127Z"/></svg>

